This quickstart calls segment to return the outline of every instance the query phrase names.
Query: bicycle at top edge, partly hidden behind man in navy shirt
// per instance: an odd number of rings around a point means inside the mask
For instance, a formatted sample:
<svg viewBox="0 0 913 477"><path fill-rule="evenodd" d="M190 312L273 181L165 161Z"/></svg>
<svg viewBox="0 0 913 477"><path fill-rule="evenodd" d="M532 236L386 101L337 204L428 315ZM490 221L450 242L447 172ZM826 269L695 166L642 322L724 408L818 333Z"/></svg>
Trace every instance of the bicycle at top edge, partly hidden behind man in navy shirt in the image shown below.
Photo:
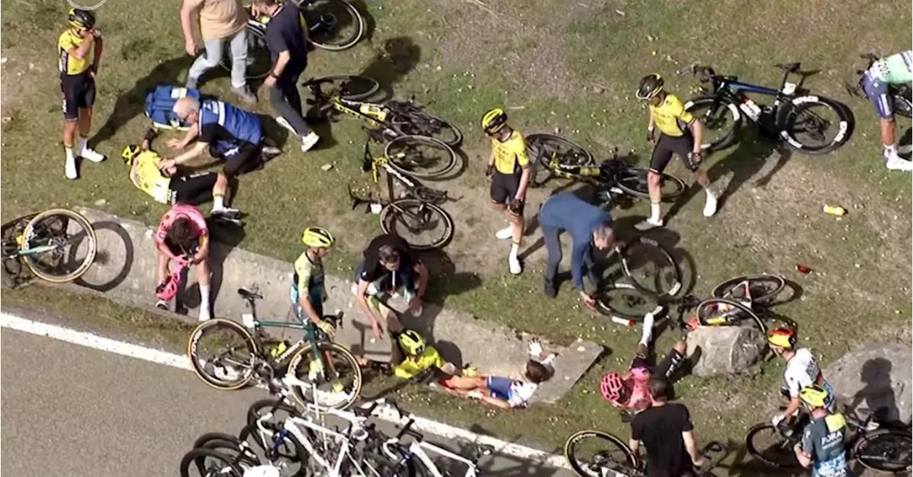
<svg viewBox="0 0 913 477"><path fill-rule="evenodd" d="M346 0L289 0L301 11L301 26L311 45L331 51L353 47L364 36L364 18ZM265 78L272 69L267 49L269 16L247 10L247 79ZM225 48L219 65L231 71L231 48Z"/></svg>

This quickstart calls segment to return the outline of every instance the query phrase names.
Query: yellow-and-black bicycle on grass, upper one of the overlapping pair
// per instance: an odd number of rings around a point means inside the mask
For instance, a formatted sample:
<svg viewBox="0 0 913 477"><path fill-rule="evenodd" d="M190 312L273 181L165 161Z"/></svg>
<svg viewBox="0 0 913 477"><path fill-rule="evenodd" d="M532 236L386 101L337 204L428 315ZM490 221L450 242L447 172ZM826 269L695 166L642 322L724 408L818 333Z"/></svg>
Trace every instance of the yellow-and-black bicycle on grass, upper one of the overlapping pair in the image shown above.
<svg viewBox="0 0 913 477"><path fill-rule="evenodd" d="M339 83L339 84L337 84ZM331 85L330 91L324 91L324 85ZM463 132L452 122L431 115L425 108L415 103L415 98L405 101L388 100L382 103L365 102L380 89L380 84L372 78L352 75L337 75L313 78L304 82L310 89L310 104L320 112L340 112L362 119L373 130L379 130L386 139L400 136L425 136L444 142L451 148L463 141Z"/></svg>

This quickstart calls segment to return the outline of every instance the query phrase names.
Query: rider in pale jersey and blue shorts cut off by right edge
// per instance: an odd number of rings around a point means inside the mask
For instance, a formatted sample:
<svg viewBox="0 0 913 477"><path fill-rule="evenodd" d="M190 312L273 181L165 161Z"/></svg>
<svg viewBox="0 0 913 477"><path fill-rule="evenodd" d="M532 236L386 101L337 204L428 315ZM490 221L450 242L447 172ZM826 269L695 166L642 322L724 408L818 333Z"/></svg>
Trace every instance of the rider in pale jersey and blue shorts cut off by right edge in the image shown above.
<svg viewBox="0 0 913 477"><path fill-rule="evenodd" d="M887 159L887 169L892 171L913 171L913 161L898 154L909 154L913 144L897 145L897 123L894 120L894 105L889 90L891 85L913 83L913 50L902 51L890 57L881 58L872 64L863 75L863 91L875 105L881 122L882 152Z"/></svg>

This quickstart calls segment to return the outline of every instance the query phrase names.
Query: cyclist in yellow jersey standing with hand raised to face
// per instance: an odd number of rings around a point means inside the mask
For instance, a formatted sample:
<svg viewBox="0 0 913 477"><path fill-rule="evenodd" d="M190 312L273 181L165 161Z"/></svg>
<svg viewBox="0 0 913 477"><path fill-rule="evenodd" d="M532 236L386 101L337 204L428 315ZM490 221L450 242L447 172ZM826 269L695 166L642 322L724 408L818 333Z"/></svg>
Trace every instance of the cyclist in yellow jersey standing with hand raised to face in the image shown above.
<svg viewBox="0 0 913 477"><path fill-rule="evenodd" d="M92 162L105 157L89 149L92 106L95 104L95 75L98 74L104 42L88 10L71 8L68 28L58 37L60 91L63 96L63 147L67 153L67 179L79 179L76 158ZM76 132L79 130L79 141Z"/></svg>

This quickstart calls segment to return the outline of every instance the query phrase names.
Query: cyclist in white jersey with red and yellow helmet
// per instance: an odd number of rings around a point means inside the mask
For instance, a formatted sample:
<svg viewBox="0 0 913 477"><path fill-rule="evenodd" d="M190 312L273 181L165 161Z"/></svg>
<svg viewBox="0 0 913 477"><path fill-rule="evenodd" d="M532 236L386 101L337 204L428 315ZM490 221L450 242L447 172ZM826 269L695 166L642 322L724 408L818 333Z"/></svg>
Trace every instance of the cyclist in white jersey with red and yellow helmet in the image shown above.
<svg viewBox="0 0 913 477"><path fill-rule="evenodd" d="M808 386L818 385L827 389L830 400L826 407L828 410L834 410L834 389L824 380L824 374L812 352L804 347L796 347L798 338L795 332L787 327L776 328L771 331L767 341L773 352L786 361L781 392L783 396L790 399L786 410L773 416L771 423L774 427L778 426L782 420L791 418L802 407L800 393L803 388Z"/></svg>

